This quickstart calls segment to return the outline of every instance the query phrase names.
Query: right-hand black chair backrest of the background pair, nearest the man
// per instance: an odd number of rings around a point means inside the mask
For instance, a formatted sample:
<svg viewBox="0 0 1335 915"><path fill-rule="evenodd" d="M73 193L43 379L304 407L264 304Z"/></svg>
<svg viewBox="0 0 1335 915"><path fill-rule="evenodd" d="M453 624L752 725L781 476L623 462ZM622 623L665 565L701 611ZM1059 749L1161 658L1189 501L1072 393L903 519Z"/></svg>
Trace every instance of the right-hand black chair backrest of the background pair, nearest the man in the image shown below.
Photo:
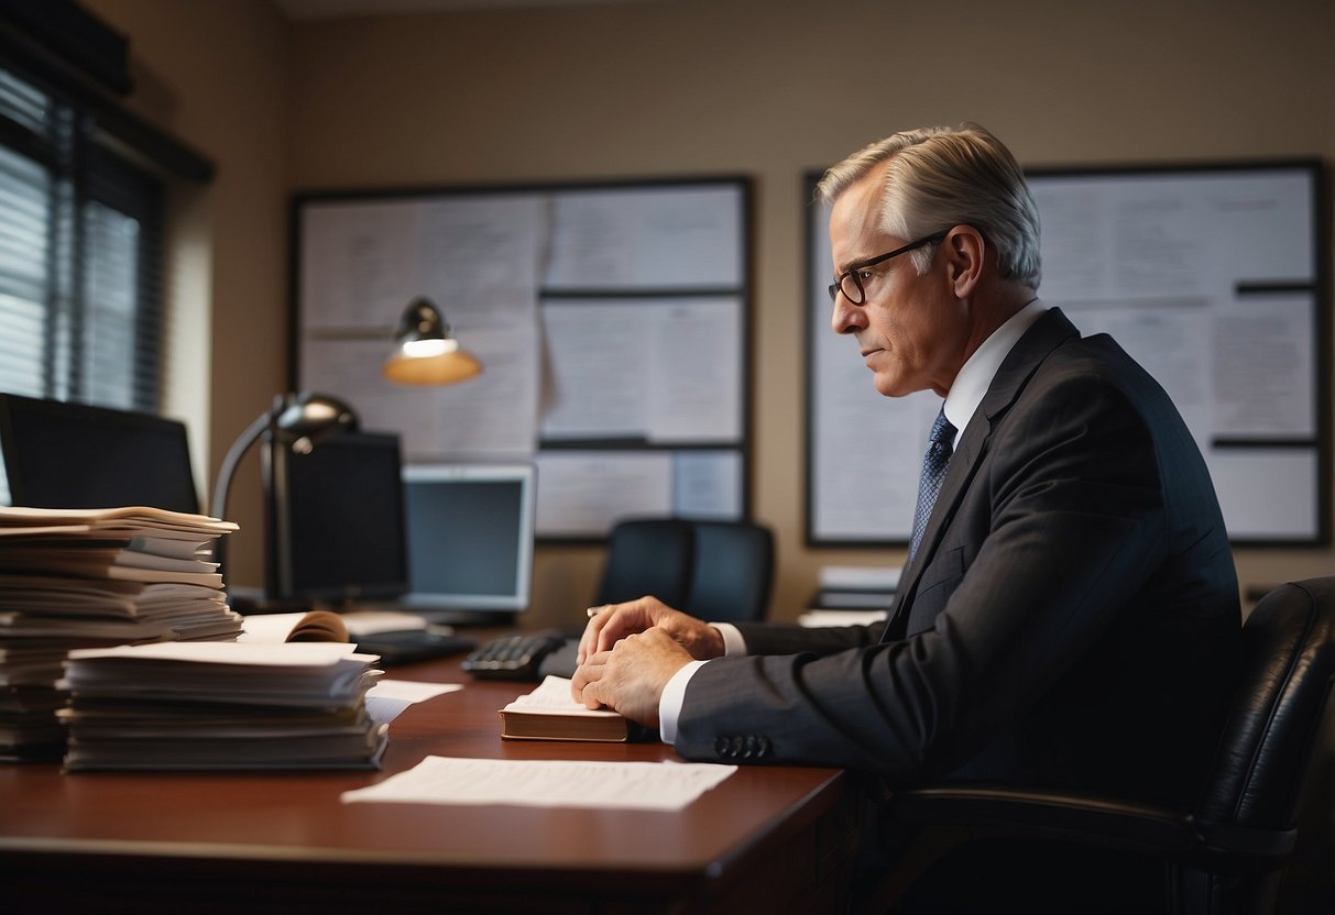
<svg viewBox="0 0 1335 915"><path fill-rule="evenodd" d="M762 620L774 580L774 535L756 522L696 522L682 610L704 620Z"/></svg>

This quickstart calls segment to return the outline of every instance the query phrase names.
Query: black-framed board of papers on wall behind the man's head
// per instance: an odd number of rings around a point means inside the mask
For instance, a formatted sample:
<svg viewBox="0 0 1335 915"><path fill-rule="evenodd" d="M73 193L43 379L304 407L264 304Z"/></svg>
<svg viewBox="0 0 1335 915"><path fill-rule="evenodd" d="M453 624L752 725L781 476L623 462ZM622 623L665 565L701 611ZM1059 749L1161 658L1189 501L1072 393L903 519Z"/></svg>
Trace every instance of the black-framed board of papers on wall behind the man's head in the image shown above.
<svg viewBox="0 0 1335 915"><path fill-rule="evenodd" d="M818 175L808 176L808 200ZM1330 240L1319 161L1028 173L1044 301L1172 396L1240 546L1330 542ZM828 208L808 225L806 540L908 543L940 397L881 397L829 328Z"/></svg>

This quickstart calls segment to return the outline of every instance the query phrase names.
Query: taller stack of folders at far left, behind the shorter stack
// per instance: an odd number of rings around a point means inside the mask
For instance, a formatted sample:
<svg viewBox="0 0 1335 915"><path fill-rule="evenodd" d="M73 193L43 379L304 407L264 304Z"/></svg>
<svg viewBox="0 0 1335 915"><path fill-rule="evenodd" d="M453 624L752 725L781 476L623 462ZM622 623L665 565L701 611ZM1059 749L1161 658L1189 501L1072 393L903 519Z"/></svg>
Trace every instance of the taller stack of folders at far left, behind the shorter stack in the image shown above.
<svg viewBox="0 0 1335 915"><path fill-rule="evenodd" d="M158 508L0 507L0 760L59 759L65 654L235 640L211 562L231 522Z"/></svg>

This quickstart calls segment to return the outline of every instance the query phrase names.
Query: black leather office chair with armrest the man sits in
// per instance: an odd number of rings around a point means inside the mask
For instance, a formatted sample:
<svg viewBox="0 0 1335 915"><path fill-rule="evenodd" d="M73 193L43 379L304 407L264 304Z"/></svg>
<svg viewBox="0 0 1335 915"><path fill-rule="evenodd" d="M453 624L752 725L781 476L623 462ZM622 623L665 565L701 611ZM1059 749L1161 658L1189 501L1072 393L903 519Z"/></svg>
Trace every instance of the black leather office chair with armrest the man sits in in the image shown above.
<svg viewBox="0 0 1335 915"><path fill-rule="evenodd" d="M892 822L922 832L892 866L874 908L893 911L914 880L947 854L1003 836L1161 862L1163 887L1152 887L1156 898L1135 911L1335 911L1328 844L1335 811L1328 808L1328 747L1319 739L1330 726L1335 676L1335 576L1284 584L1266 595L1243 627L1243 646L1242 686L1195 810L1009 787L900 792L890 800ZM1324 798L1327 808L1308 810L1314 798ZM1312 812L1327 828L1308 828ZM1319 858L1314 870L1322 876L1303 887L1310 896L1292 903L1295 908L1278 907L1284 868L1302 868L1314 854ZM1095 900L1108 887L1087 890L1087 899ZM997 903L1004 911L1004 900ZM1072 900L1071 911L1084 908Z"/></svg>

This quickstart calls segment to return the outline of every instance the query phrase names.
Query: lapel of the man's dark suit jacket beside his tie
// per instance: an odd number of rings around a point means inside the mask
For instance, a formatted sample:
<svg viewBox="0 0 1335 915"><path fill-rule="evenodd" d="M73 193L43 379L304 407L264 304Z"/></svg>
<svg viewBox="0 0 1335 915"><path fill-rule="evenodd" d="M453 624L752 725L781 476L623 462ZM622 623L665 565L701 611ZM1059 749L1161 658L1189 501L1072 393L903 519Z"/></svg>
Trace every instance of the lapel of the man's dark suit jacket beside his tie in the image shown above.
<svg viewBox="0 0 1335 915"><path fill-rule="evenodd" d="M960 444L951 458L951 464L941 483L941 494L937 496L932 518L922 532L922 543L913 562L904 570L897 588L890 624L885 627L882 640L902 639L908 626L909 610L917 594L918 579L922 578L932 559L936 556L941 534L949 527L955 511L969 488L975 474L983 463L983 456L988 451L988 443L1001 417L1005 416L1011 404L1020 396L1020 391L1029 377L1037 371L1043 360L1048 357L1064 340L1079 336L1076 327L1061 313L1059 308L1049 308L1033 325L1024 332L1005 359L997 368L988 392L983 396L983 403L969 417Z"/></svg>

